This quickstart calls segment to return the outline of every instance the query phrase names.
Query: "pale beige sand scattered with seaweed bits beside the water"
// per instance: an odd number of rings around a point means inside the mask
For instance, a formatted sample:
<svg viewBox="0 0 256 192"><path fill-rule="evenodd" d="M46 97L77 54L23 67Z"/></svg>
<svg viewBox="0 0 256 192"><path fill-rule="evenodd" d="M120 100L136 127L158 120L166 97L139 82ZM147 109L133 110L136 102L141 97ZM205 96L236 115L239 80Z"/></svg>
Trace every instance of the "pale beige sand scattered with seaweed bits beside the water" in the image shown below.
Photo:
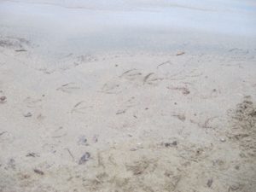
<svg viewBox="0 0 256 192"><path fill-rule="evenodd" d="M50 60L2 33L0 191L255 191L256 49L244 47Z"/></svg>

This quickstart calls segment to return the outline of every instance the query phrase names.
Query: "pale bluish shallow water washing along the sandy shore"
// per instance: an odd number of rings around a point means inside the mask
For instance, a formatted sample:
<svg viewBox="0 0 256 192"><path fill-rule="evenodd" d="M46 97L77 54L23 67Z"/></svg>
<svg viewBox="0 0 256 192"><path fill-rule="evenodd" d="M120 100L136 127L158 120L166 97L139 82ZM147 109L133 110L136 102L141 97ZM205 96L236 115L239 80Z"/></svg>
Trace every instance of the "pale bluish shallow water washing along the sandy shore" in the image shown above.
<svg viewBox="0 0 256 192"><path fill-rule="evenodd" d="M256 46L253 1L0 1L0 35L40 53L221 50Z"/></svg>

